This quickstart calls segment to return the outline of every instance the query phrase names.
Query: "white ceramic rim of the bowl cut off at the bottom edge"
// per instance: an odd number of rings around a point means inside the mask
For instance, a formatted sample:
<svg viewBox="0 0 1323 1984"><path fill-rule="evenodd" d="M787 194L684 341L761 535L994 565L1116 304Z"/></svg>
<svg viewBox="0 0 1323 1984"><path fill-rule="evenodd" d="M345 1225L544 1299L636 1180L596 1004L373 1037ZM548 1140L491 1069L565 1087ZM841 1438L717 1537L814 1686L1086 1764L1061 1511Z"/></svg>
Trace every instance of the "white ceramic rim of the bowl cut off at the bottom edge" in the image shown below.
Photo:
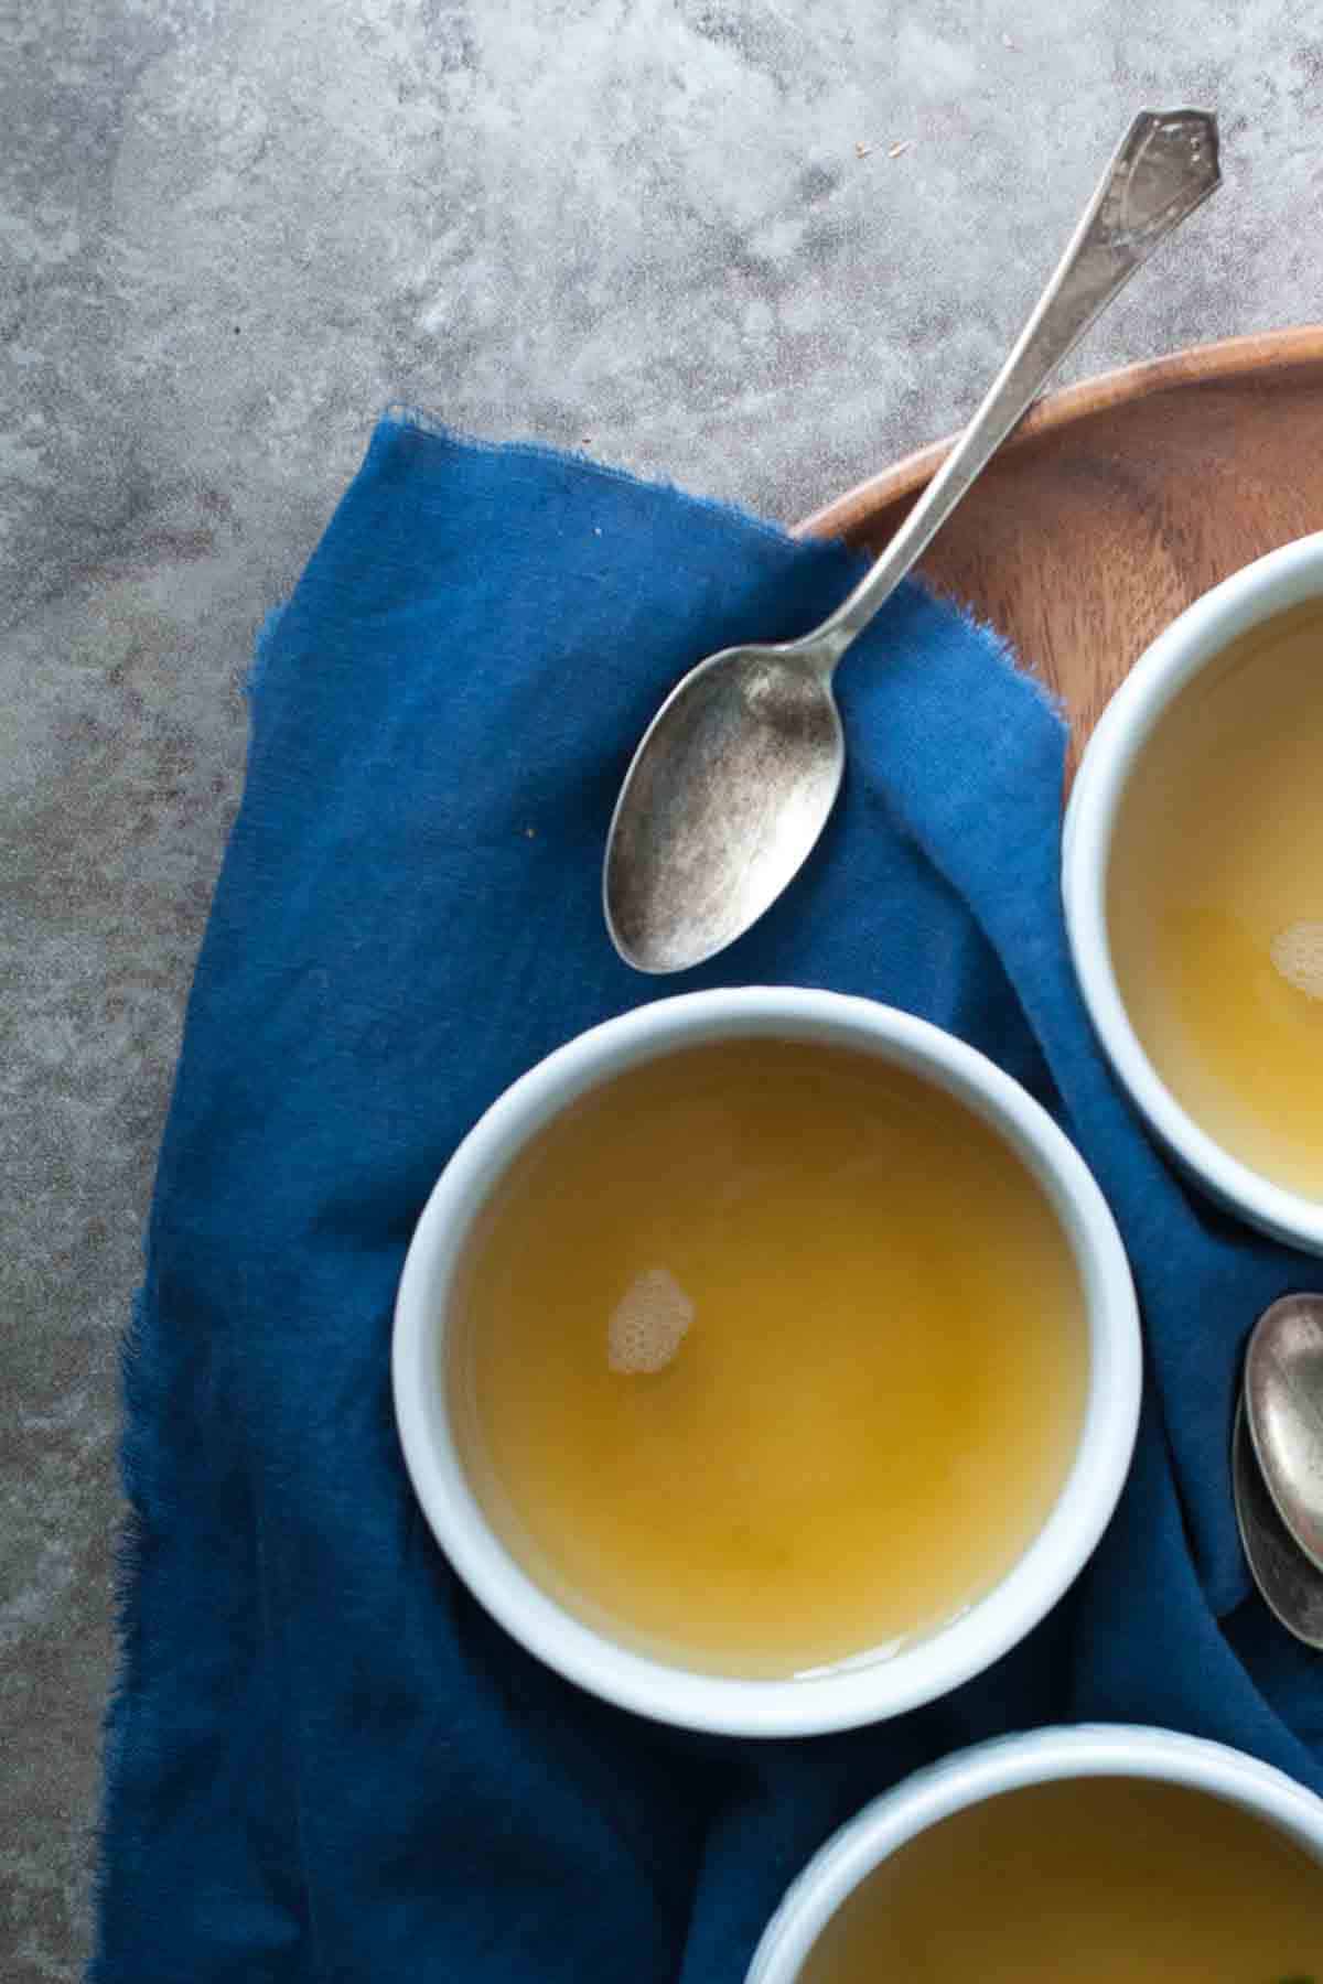
<svg viewBox="0 0 1323 1984"><path fill-rule="evenodd" d="M1242 1750L1125 1722L1031 1730L958 1750L849 1819L785 1891L746 1984L795 1984L847 1895L918 1833L1002 1792L1059 1778L1156 1778L1224 1798L1267 1819L1323 1863L1323 1799Z"/></svg>

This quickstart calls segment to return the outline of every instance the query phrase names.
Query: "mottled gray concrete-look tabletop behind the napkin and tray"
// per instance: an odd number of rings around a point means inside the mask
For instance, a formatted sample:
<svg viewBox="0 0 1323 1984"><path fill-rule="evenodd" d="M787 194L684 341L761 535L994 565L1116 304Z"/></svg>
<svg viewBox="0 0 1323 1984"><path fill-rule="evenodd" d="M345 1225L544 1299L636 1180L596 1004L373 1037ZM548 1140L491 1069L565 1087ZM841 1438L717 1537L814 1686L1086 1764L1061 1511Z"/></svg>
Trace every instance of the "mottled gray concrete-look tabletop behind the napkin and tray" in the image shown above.
<svg viewBox="0 0 1323 1984"><path fill-rule="evenodd" d="M1075 371L1321 315L1323 42L1154 16L0 0L8 1984L89 1936L117 1345L238 681L375 411L795 518L972 405L1141 103L1218 107L1228 186Z"/></svg>

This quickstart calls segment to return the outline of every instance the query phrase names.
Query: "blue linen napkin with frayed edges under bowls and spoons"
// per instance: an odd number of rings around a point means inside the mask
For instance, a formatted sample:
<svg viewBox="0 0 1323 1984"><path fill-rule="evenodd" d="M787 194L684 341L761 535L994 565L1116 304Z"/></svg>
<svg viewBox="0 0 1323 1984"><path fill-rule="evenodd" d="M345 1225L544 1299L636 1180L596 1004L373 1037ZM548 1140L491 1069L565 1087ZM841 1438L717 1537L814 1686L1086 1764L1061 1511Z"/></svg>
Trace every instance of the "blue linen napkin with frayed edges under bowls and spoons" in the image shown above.
<svg viewBox="0 0 1323 1984"><path fill-rule="evenodd" d="M845 792L778 909L678 982L603 932L605 825L662 692L855 573L389 417L270 625L127 1359L97 1984L738 1984L839 1819L1053 1718L1166 1722L1323 1792L1323 1665L1250 1595L1228 1484L1244 1335L1319 1268L1192 1198L1099 1059L1039 690L906 589L841 675ZM944 1702L809 1742L666 1730L526 1657L432 1544L387 1387L411 1228L486 1103L613 1012L742 982L910 1008L1039 1095L1117 1212L1150 1359L1075 1591Z"/></svg>

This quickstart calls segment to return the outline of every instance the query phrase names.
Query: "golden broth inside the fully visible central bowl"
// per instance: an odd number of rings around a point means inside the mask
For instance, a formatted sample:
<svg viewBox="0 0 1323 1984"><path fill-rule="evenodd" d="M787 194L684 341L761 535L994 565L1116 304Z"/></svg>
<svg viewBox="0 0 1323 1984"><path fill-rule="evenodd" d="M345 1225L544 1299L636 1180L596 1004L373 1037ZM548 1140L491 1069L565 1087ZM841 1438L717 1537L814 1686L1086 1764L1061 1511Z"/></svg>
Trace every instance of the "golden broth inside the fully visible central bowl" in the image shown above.
<svg viewBox="0 0 1323 1984"><path fill-rule="evenodd" d="M454 1321L460 1450L514 1555L712 1673L950 1619L1033 1540L1083 1417L1037 1182L940 1089L817 1046L585 1097L480 1216Z"/></svg>

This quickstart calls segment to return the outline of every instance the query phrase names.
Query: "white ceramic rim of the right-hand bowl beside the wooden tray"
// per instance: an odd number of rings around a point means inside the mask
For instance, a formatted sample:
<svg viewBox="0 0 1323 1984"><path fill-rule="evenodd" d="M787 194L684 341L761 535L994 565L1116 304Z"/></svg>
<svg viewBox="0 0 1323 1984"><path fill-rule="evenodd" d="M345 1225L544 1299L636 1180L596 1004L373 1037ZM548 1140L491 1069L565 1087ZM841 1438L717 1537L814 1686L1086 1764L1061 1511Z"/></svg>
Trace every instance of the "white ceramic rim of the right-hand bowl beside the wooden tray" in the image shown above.
<svg viewBox="0 0 1323 1984"><path fill-rule="evenodd" d="M1117 1075L1178 1165L1275 1240L1323 1254L1323 1204L1260 1177L1216 1143L1166 1087L1131 1026L1107 932L1107 869L1125 788L1174 696L1230 641L1323 597L1323 532L1269 552L1196 599L1131 669L1089 738L1061 841L1061 897L1075 974Z"/></svg>

